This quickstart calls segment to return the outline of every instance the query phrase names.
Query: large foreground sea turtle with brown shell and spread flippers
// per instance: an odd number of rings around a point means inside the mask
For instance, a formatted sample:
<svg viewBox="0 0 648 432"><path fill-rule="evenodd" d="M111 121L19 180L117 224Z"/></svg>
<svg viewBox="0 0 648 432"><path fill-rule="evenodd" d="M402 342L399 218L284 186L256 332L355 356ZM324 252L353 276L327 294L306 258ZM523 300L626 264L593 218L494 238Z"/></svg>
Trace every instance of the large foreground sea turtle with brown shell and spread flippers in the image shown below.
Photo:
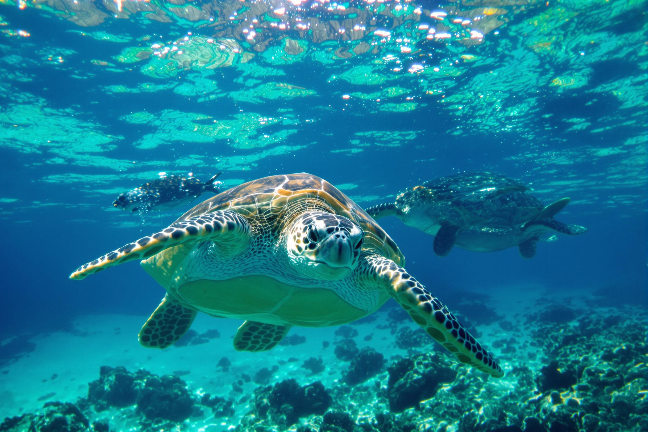
<svg viewBox="0 0 648 432"><path fill-rule="evenodd" d="M291 326L349 323L391 297L459 361L503 376L491 354L402 267L388 234L310 174L264 177L221 192L70 278L137 259L167 290L139 332L145 347L172 345L200 311L247 320L234 337L237 350L269 350Z"/></svg>

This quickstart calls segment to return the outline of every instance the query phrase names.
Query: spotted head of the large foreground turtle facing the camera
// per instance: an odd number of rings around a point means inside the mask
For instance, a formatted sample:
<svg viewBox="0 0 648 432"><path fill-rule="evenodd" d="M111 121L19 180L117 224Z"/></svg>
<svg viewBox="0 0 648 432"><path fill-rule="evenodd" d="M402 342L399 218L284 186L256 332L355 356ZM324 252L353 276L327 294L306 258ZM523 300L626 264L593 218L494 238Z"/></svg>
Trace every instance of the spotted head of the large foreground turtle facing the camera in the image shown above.
<svg viewBox="0 0 648 432"><path fill-rule="evenodd" d="M288 226L286 249L292 265L306 277L341 279L358 266L363 240L362 229L349 218L308 211Z"/></svg>

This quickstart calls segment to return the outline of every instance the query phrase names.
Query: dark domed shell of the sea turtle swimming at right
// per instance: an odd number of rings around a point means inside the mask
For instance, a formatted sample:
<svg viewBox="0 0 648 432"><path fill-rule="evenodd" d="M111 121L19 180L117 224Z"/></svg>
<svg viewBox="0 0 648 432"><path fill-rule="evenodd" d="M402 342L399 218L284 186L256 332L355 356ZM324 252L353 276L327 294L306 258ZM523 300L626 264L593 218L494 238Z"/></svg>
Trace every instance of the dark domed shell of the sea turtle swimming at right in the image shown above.
<svg viewBox="0 0 648 432"><path fill-rule="evenodd" d="M513 226L533 219L544 208L527 191L525 185L500 174L469 172L405 190L397 197L397 207L426 206L428 216L460 227L481 223Z"/></svg>

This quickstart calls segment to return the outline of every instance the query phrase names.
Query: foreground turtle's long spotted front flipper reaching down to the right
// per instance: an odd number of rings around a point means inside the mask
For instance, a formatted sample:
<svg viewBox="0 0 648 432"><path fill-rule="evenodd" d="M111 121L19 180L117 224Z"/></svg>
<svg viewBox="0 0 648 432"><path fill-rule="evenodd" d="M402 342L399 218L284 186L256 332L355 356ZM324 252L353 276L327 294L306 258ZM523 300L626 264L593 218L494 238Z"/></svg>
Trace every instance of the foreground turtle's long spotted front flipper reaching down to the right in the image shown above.
<svg viewBox="0 0 648 432"><path fill-rule="evenodd" d="M376 284L419 324L425 332L461 361L495 378L504 375L491 354L475 341L452 313L407 271L384 256L371 254L362 258L360 275L367 288ZM365 285L365 286L366 286Z"/></svg>

